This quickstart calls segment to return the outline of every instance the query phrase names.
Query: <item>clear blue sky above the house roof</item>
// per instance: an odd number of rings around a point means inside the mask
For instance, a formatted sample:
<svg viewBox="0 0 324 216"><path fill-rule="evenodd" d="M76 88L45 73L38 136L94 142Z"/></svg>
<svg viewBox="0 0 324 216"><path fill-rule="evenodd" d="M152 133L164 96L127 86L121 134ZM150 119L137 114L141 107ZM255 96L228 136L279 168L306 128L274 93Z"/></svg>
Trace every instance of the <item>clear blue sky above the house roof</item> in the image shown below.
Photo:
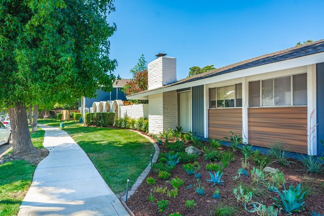
<svg viewBox="0 0 324 216"><path fill-rule="evenodd" d="M225 66L324 39L324 0L116 0L109 15L115 74L129 70L143 53L177 58L177 79L189 67Z"/></svg>

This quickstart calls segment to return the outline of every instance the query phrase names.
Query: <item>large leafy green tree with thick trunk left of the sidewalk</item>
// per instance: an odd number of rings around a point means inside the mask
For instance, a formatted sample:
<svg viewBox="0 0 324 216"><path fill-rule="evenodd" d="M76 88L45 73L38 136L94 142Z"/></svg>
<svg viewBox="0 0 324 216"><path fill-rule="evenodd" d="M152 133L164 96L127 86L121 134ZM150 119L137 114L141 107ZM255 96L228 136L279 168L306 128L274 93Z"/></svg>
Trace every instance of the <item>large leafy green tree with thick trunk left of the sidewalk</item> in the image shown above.
<svg viewBox="0 0 324 216"><path fill-rule="evenodd" d="M39 154L32 146L26 106L93 97L109 91L116 60L107 16L113 0L0 1L0 103L11 119L13 156Z"/></svg>

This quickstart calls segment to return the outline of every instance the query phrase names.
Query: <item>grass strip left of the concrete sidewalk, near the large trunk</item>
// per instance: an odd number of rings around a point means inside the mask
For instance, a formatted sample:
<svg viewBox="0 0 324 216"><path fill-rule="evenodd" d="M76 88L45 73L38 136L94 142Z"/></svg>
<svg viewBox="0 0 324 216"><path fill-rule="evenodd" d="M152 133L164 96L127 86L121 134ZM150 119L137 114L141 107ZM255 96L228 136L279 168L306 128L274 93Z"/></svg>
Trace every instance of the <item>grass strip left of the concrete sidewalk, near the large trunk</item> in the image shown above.
<svg viewBox="0 0 324 216"><path fill-rule="evenodd" d="M30 135L36 148L43 148L44 130ZM26 161L10 161L0 165L0 216L16 216L32 181L36 166Z"/></svg>

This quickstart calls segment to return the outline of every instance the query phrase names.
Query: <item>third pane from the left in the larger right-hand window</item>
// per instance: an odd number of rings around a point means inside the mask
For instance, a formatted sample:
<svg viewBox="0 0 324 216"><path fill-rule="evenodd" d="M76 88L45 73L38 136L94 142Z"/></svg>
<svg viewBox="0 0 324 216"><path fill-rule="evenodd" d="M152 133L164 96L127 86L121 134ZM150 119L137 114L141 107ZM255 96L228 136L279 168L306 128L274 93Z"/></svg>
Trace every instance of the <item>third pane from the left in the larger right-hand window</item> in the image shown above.
<svg viewBox="0 0 324 216"><path fill-rule="evenodd" d="M275 106L291 105L291 78L290 76L274 79Z"/></svg>

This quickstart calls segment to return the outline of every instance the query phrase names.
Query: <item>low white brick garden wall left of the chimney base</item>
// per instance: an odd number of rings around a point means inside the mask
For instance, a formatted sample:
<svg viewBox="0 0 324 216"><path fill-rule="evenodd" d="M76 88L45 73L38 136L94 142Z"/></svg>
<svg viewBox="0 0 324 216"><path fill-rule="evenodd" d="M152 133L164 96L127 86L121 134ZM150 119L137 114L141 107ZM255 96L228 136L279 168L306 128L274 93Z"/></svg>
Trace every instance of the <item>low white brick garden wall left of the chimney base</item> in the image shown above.
<svg viewBox="0 0 324 216"><path fill-rule="evenodd" d="M149 104L121 106L120 113L122 118L125 116L135 119L140 117L149 117Z"/></svg>

